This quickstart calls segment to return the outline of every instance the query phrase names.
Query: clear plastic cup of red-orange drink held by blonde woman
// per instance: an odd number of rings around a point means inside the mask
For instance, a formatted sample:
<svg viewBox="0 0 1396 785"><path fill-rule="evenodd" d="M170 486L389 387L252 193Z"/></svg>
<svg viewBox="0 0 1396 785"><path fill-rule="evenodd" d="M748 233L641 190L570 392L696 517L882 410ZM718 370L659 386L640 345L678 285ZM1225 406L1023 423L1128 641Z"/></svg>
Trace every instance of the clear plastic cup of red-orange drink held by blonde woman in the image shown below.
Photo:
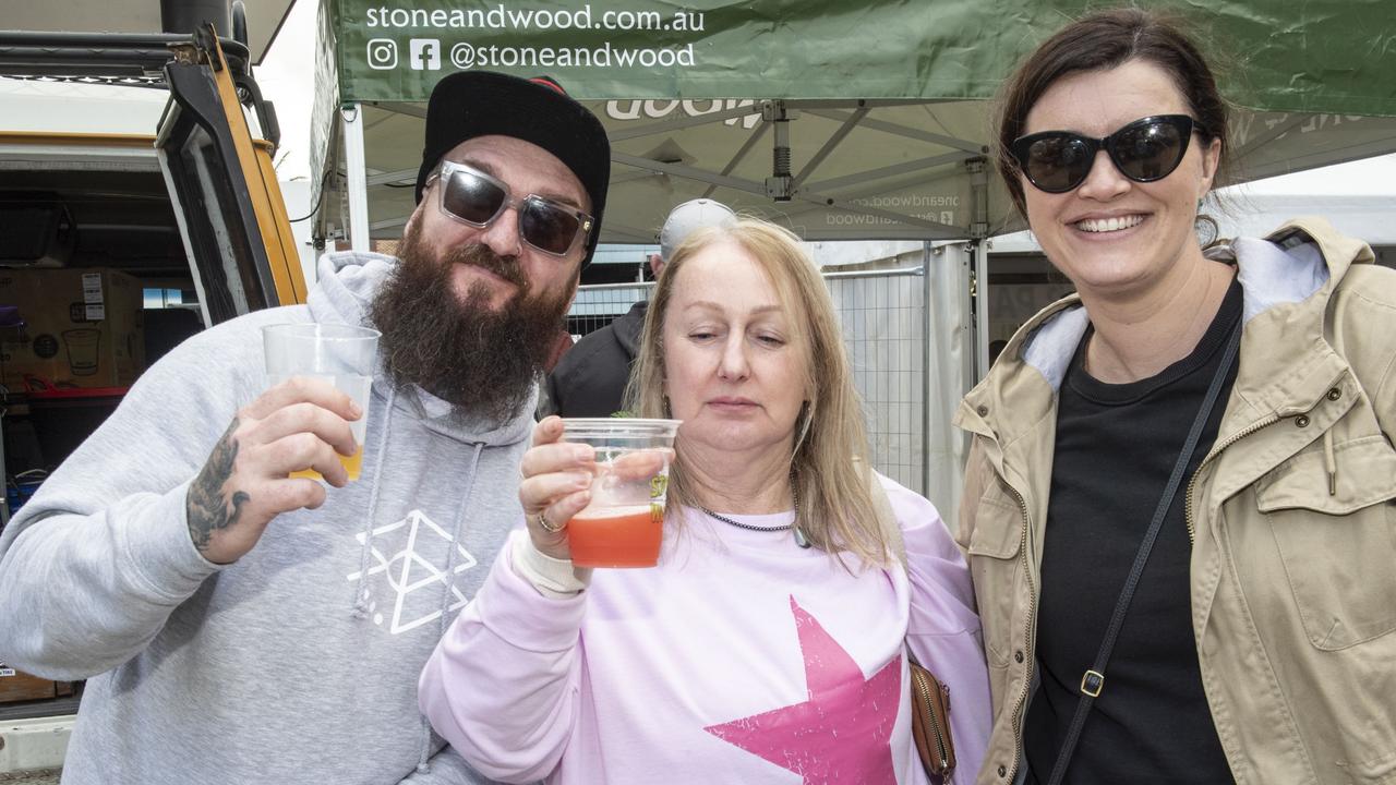
<svg viewBox="0 0 1396 785"><path fill-rule="evenodd" d="M653 567L663 541L664 499L680 420L564 418L563 440L596 448L592 500L567 522L579 567ZM663 458L659 472L637 472L645 453Z"/></svg>

